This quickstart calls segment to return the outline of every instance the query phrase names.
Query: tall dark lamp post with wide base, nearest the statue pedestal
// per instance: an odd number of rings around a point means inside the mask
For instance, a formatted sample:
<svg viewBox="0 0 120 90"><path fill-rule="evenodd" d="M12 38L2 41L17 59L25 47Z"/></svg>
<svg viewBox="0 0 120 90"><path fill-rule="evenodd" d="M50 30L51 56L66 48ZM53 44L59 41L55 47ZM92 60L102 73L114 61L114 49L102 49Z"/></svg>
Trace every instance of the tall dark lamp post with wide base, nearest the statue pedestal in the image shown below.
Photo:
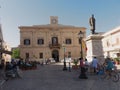
<svg viewBox="0 0 120 90"><path fill-rule="evenodd" d="M81 67L81 72L80 72L80 75L79 75L79 78L81 79L87 79L87 76L86 76L86 70L84 68L84 65L83 65L83 51L82 51L82 39L84 37L83 35L83 32L80 31L78 33L78 36L79 36L79 42L80 42L80 48L81 48L81 52L80 52L80 67Z"/></svg>

